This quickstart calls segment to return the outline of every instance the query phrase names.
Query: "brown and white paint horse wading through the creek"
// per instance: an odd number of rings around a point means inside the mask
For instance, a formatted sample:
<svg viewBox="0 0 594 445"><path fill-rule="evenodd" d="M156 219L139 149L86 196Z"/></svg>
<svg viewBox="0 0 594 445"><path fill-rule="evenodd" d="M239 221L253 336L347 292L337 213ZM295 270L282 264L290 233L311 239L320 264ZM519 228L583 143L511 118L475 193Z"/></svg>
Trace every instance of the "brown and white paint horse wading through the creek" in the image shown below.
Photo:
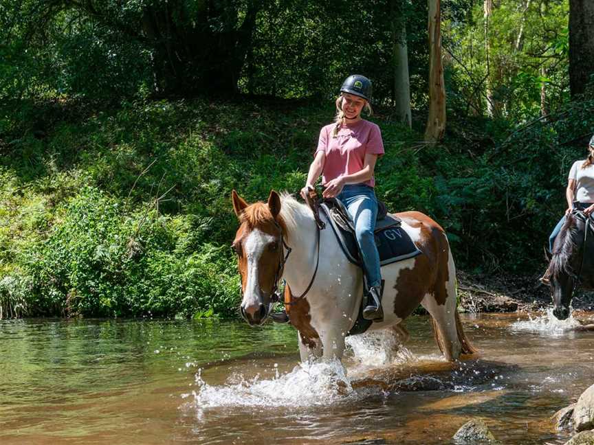
<svg viewBox="0 0 594 445"><path fill-rule="evenodd" d="M270 315L276 280L285 279L285 308L299 332L302 361L342 358L344 336L357 319L362 271L347 260L330 229L318 235L314 214L292 196L270 192L267 203L248 205L235 191L239 218L233 248L241 273L241 314L250 325ZM437 344L448 361L472 354L456 311L456 269L443 229L419 212L396 214L421 255L382 267L384 321L371 330L396 328L419 304L432 316ZM283 237L292 251L283 267ZM320 255L319 263L317 256ZM314 270L318 271L314 277ZM309 284L311 288L301 295Z"/></svg>

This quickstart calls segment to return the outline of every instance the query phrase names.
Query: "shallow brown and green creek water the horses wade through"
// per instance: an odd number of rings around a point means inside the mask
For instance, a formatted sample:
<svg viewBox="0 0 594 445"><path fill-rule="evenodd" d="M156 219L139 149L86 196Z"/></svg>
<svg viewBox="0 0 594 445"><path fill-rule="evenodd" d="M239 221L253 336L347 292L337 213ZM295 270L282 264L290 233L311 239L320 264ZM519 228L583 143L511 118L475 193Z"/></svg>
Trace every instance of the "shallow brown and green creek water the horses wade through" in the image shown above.
<svg viewBox="0 0 594 445"><path fill-rule="evenodd" d="M504 444L563 444L549 418L594 383L574 316L463 315L479 354L453 365L412 317L405 347L349 339L346 369L298 365L290 326L0 321L0 444L451 444L474 417Z"/></svg>

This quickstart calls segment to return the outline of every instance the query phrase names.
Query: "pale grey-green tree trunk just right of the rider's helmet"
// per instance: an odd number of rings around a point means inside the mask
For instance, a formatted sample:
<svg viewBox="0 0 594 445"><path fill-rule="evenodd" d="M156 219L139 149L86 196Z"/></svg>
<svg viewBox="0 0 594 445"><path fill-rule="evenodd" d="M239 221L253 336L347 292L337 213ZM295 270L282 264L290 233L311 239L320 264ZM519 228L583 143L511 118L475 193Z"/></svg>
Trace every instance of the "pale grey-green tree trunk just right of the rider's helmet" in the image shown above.
<svg viewBox="0 0 594 445"><path fill-rule="evenodd" d="M394 55L394 108L399 122L412 126L410 115L410 80L408 76L408 47L406 45L406 24L402 17L392 21Z"/></svg>

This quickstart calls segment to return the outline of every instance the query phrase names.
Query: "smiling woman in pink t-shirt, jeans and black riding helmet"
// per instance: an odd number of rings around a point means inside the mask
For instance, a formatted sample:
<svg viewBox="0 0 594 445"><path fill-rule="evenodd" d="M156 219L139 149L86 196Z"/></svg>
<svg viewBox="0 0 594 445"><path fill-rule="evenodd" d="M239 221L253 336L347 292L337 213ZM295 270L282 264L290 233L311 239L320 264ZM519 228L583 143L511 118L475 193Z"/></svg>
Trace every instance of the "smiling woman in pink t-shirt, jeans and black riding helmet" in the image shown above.
<svg viewBox="0 0 594 445"><path fill-rule="evenodd" d="M377 218L375 197L375 162L384 155L380 127L361 118L366 109L371 115L371 80L349 76L342 83L336 100L336 119L320 131L314 161L309 166L301 196L314 190L322 174L324 198L338 198L347 207L355 226L366 277L367 303L363 317L382 321L382 275L380 255L375 246L373 229Z"/></svg>

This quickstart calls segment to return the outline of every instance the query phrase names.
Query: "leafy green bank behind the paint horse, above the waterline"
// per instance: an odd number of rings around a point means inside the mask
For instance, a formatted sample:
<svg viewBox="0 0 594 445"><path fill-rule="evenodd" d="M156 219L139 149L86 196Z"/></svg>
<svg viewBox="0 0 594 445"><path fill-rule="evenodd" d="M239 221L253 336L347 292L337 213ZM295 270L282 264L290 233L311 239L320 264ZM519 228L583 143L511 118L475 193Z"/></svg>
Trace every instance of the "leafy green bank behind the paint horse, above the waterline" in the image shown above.
<svg viewBox="0 0 594 445"><path fill-rule="evenodd" d="M563 141L592 124L589 106L516 133L454 116L441 146L380 109L377 193L443 225L461 269L533 273L583 152ZM232 317L230 191L296 192L332 115L247 100L12 104L0 118L3 316Z"/></svg>

